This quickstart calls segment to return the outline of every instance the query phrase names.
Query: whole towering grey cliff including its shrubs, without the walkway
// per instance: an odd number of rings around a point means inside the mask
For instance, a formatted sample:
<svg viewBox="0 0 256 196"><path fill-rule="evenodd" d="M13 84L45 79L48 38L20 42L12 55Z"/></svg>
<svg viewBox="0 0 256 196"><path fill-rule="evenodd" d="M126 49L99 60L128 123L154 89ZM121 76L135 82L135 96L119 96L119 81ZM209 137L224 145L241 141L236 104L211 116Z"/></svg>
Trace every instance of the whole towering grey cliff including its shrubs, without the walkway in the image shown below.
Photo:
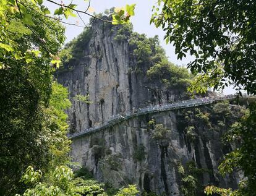
<svg viewBox="0 0 256 196"><path fill-rule="evenodd" d="M156 37L94 21L69 47L73 57L56 77L70 93L70 132L103 124L116 114L188 98L189 73L166 60ZM89 95L90 103L76 95ZM194 175L199 184L193 190L197 195L208 184L235 188L239 175L223 177L218 165L227 153L221 137L236 118L229 117L218 129L223 119L214 107L145 114L74 138L72 159L116 188L137 184L141 192L183 195L189 189L186 175ZM198 173L180 172L189 163Z"/></svg>

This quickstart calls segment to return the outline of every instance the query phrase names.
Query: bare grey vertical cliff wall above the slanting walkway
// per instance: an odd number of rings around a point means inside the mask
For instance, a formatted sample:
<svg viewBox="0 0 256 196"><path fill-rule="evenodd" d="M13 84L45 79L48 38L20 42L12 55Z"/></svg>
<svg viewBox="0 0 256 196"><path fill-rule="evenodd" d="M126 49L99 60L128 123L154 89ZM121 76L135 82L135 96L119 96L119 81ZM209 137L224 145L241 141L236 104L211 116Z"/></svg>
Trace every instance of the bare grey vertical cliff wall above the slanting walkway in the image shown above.
<svg viewBox="0 0 256 196"><path fill-rule="evenodd" d="M87 30L90 33L81 39L84 43L79 59L72 59L58 72L58 82L68 87L73 103L67 113L74 131L102 124L109 116L135 108L186 99L184 90L168 90L158 80L152 82L146 77L150 62L137 65L134 48L129 45L129 30L122 40L116 39L120 28L93 22ZM87 94L91 104L73 99Z"/></svg>

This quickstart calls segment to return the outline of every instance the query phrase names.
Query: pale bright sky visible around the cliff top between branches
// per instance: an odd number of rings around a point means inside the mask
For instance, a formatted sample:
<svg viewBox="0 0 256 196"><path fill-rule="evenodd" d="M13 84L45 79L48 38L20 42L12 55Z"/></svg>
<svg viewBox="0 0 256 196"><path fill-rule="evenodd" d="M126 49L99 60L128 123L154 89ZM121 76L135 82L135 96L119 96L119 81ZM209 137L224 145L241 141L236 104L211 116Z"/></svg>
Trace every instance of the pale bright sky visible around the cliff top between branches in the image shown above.
<svg viewBox="0 0 256 196"><path fill-rule="evenodd" d="M160 38L161 46L166 50L166 55L169 57L169 61L177 64L179 66L186 66L193 57L187 55L187 58L183 58L182 61L177 59L177 55L174 53L174 47L171 44L166 45L163 40L164 32L161 28L156 28L153 24L150 25L150 17L151 17L151 9L153 5L156 4L157 0L91 0L90 7L92 7L93 11L96 13L104 12L106 9L111 7L124 7L126 4L136 4L135 6L135 16L132 17L131 22L134 25L134 31L138 33L145 33L147 36L155 36L158 35ZM61 2L61 0L55 0L55 2ZM69 4L71 0L65 0L65 4ZM57 7L54 4L45 1L46 6L53 12ZM84 11L87 9L88 2L84 0L73 0L72 4L77 4L77 9ZM90 13L92 14L92 13ZM88 23L89 18L88 15L80 14L83 21ZM64 20L70 23L79 22L79 25L83 25L82 20L79 17L70 17L68 20ZM83 28L75 27L72 25L66 26L66 37L67 41L75 38L79 33L82 32ZM224 94L235 93L235 91L229 87L224 90Z"/></svg>

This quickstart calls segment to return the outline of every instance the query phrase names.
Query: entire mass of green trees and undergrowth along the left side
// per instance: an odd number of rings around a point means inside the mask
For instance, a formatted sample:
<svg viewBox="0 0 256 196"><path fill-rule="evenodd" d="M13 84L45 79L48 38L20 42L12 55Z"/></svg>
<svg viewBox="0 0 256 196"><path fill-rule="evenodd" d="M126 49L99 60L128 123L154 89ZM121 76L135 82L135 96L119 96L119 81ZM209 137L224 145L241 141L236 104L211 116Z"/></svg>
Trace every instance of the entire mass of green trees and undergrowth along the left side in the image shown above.
<svg viewBox="0 0 256 196"><path fill-rule="evenodd" d="M102 184L70 169L64 113L70 101L67 89L53 78L64 27L42 3L0 2L0 195L105 194ZM133 9L126 7L126 13L132 15ZM60 6L54 14L68 17L72 9ZM119 14L116 22L128 20ZM116 195L137 192L130 185Z"/></svg>

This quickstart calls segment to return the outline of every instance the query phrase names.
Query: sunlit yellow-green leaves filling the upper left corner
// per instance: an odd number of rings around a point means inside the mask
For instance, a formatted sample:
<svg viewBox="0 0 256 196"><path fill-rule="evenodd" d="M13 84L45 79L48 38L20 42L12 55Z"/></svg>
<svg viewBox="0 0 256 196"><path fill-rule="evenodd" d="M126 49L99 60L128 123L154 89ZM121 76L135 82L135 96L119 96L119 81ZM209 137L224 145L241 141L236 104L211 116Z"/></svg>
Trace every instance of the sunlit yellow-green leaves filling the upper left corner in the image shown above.
<svg viewBox="0 0 256 196"><path fill-rule="evenodd" d="M43 11L35 2L17 3L7 0L0 2L0 69L12 67L11 62L29 66L33 59L51 61L64 42L64 28L56 21L41 17ZM28 49L40 51L41 56L27 53Z"/></svg>

